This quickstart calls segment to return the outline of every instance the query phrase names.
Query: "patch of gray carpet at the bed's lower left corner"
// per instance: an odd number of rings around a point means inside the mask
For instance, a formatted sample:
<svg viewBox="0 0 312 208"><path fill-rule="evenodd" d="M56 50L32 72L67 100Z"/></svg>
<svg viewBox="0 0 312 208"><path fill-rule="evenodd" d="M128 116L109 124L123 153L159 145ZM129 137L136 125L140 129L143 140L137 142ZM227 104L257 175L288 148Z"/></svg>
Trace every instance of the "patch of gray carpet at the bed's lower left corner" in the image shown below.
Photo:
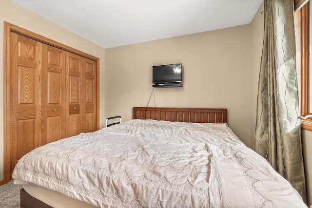
<svg viewBox="0 0 312 208"><path fill-rule="evenodd" d="M20 208L20 189L13 180L0 186L0 208Z"/></svg>

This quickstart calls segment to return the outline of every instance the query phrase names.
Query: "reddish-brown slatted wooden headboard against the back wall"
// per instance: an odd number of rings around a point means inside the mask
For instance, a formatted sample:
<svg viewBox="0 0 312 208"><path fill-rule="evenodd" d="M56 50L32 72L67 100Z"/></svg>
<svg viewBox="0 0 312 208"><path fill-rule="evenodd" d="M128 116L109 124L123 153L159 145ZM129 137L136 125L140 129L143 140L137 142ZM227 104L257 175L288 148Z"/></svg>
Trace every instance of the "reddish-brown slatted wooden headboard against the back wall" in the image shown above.
<svg viewBox="0 0 312 208"><path fill-rule="evenodd" d="M193 123L226 123L225 108L156 108L133 107L133 119L182 121Z"/></svg>

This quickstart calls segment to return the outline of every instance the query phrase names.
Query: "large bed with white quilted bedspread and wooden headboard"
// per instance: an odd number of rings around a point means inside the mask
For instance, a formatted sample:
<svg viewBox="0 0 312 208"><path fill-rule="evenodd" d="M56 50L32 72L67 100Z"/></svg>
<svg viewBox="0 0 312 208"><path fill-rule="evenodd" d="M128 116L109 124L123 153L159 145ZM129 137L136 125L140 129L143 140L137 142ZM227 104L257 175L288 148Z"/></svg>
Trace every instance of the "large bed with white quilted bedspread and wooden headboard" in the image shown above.
<svg viewBox="0 0 312 208"><path fill-rule="evenodd" d="M226 122L226 109L134 107L132 120L24 155L21 207L306 208Z"/></svg>

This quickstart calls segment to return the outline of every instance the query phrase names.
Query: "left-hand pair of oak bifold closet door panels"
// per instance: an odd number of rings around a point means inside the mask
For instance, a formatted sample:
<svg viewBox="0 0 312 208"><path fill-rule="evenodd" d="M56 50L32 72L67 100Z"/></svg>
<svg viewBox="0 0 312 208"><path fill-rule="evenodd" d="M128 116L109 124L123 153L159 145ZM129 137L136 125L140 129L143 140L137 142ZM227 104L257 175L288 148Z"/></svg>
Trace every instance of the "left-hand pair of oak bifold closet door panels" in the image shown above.
<svg viewBox="0 0 312 208"><path fill-rule="evenodd" d="M65 136L65 53L12 33L11 172L27 152Z"/></svg>

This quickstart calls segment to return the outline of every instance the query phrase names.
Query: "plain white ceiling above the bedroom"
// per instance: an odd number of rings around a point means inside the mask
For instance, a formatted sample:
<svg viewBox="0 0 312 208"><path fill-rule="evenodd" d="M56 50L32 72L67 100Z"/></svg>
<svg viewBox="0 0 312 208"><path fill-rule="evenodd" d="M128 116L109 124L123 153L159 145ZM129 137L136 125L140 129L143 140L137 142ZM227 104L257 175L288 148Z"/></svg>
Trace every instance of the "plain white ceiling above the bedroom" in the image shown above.
<svg viewBox="0 0 312 208"><path fill-rule="evenodd" d="M249 24L263 0L12 0L103 48Z"/></svg>

